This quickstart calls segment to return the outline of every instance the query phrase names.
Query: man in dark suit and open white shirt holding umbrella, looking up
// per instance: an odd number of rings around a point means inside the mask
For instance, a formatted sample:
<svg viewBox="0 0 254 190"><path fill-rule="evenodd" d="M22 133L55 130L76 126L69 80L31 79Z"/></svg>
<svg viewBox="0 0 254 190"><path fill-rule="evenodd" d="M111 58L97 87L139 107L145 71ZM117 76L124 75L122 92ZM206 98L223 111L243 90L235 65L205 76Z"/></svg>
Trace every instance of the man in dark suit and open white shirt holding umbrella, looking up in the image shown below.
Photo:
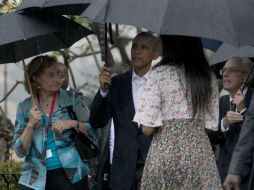
<svg viewBox="0 0 254 190"><path fill-rule="evenodd" d="M139 125L132 119L151 63L159 55L157 44L158 40L151 33L139 33L131 48L133 69L111 78L111 69L104 67L99 77L100 89L92 103L90 124L99 128L113 118L115 137L110 172L112 190L139 189L151 138L141 134Z"/></svg>

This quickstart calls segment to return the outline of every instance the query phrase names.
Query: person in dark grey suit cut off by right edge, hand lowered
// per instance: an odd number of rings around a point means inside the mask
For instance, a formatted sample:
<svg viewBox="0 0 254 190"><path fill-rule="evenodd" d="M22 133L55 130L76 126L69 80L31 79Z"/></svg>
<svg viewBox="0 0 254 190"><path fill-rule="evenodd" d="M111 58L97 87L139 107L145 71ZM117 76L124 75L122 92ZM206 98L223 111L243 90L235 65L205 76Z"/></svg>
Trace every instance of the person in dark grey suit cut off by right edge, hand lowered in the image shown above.
<svg viewBox="0 0 254 190"><path fill-rule="evenodd" d="M250 175L245 190L254 189L254 95L245 115L239 140L231 159L228 175L223 184L224 190L239 190Z"/></svg>

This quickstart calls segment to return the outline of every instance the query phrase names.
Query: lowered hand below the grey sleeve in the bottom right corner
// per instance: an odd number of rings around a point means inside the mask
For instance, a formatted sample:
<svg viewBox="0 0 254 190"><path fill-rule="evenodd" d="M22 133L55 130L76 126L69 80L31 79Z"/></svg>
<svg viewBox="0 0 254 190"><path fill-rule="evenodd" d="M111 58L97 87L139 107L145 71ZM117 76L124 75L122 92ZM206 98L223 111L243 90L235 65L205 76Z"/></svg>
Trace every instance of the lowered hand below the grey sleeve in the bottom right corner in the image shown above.
<svg viewBox="0 0 254 190"><path fill-rule="evenodd" d="M239 175L228 174L224 183L224 190L240 190L240 184L242 182L242 178Z"/></svg>

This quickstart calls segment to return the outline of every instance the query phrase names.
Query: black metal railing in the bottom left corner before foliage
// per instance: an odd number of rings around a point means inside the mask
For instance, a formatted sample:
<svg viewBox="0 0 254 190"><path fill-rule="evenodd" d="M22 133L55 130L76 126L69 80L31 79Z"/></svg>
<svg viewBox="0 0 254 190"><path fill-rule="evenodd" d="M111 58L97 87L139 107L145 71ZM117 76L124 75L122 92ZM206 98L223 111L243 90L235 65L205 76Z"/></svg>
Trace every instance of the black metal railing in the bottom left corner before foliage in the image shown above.
<svg viewBox="0 0 254 190"><path fill-rule="evenodd" d="M0 173L0 189L14 190L17 189L20 174Z"/></svg>

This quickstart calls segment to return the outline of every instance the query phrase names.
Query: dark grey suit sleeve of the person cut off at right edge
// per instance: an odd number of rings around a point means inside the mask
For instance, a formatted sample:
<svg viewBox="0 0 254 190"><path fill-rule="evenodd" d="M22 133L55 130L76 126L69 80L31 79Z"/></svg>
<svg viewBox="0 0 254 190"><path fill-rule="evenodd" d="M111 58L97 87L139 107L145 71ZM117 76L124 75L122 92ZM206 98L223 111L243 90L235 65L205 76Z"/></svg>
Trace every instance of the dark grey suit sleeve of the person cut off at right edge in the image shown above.
<svg viewBox="0 0 254 190"><path fill-rule="evenodd" d="M241 133L231 159L229 174L246 177L252 166L254 151L254 98L246 112Z"/></svg>

